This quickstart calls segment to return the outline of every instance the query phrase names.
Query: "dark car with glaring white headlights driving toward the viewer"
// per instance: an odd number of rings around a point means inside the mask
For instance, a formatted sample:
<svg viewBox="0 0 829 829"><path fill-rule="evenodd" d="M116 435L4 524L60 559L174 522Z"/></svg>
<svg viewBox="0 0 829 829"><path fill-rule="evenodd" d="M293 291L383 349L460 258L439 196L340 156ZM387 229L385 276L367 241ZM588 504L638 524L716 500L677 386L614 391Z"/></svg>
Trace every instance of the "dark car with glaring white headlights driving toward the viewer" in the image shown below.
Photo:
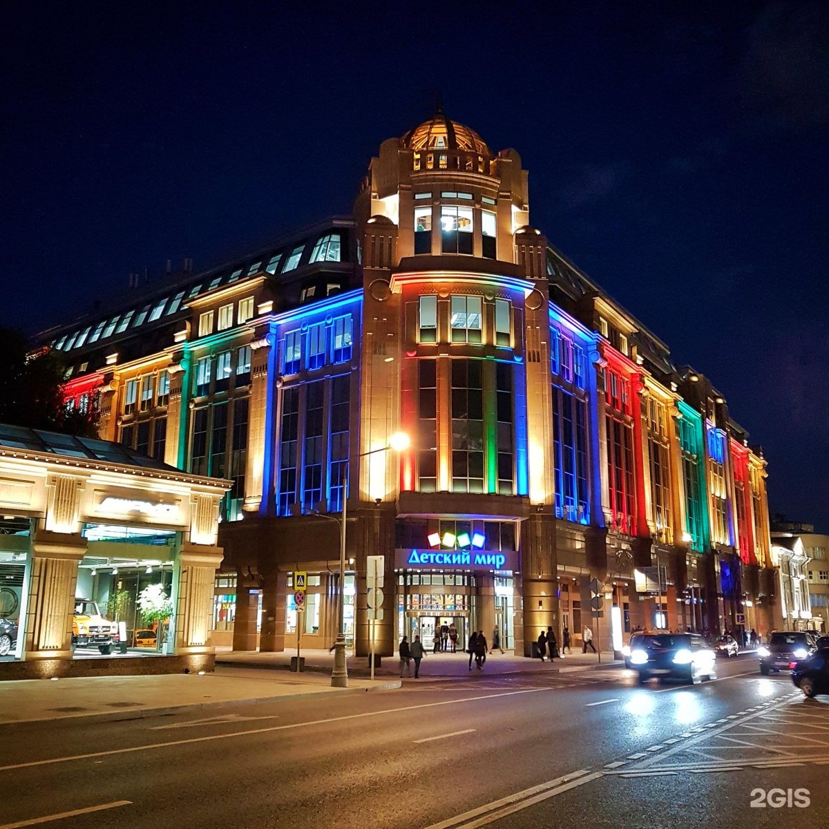
<svg viewBox="0 0 829 829"><path fill-rule="evenodd" d="M639 681L679 679L699 682L717 678L716 652L698 633L641 633L631 642L630 665Z"/></svg>

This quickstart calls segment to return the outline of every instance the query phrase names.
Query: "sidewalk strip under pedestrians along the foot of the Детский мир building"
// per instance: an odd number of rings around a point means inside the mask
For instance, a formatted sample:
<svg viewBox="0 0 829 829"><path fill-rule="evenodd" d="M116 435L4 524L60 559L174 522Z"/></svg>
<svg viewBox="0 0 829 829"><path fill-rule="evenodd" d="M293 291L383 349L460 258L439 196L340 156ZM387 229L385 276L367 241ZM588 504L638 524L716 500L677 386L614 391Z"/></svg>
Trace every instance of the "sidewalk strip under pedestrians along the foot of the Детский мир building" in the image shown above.
<svg viewBox="0 0 829 829"><path fill-rule="evenodd" d="M368 657L354 657L351 651L347 651L348 675L356 677L370 676ZM296 656L296 651L282 651L279 653L259 653L258 651L231 651L230 648L216 648L216 667L255 667L270 668L276 671L288 671L291 657ZM299 676L306 676L309 673L322 672L331 673L333 654L327 650L304 649L302 656L305 658L305 671ZM458 651L456 653L430 653L427 652L423 662L420 663L420 676L422 679L445 679L453 676L468 676L469 655ZM484 671L489 675L518 674L518 673L570 673L571 671L589 671L594 667L623 666L621 661L614 661L610 652L602 653L602 662L599 666L599 657L594 653L573 652L567 654L563 659L555 659L552 664L549 661L541 662L539 659L528 657L516 657L512 651L487 654L487 663ZM414 671L414 664L412 665ZM474 671L474 661L473 661ZM290 676L297 676L291 674ZM377 677L400 676L400 662L397 654L394 657L383 657L380 667L375 670Z"/></svg>

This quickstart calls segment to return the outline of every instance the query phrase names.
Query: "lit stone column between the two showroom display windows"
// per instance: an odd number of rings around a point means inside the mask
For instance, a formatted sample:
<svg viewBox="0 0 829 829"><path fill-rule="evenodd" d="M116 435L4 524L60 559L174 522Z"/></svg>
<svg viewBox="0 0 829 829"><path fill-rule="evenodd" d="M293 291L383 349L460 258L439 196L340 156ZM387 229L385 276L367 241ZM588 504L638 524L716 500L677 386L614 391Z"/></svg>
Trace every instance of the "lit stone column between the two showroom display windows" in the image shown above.
<svg viewBox="0 0 829 829"><path fill-rule="evenodd" d="M86 539L39 530L27 563L27 604L23 658L71 659L72 616L78 563Z"/></svg>

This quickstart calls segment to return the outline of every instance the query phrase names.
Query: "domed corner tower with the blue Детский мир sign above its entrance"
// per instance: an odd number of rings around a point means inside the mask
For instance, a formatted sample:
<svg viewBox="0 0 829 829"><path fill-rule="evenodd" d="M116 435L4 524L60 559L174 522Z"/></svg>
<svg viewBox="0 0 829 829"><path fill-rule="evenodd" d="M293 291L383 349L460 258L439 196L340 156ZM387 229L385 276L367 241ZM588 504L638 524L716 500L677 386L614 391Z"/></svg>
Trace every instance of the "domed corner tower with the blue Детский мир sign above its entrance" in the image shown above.
<svg viewBox="0 0 829 829"><path fill-rule="evenodd" d="M528 652L558 608L546 240L527 224L527 173L439 109L381 144L355 216L360 499L384 516L373 537L395 539L386 606L410 604L392 594L401 578L411 597L429 573L458 605L435 619ZM376 452L398 429L412 448ZM380 635L431 641L429 624L410 608Z"/></svg>

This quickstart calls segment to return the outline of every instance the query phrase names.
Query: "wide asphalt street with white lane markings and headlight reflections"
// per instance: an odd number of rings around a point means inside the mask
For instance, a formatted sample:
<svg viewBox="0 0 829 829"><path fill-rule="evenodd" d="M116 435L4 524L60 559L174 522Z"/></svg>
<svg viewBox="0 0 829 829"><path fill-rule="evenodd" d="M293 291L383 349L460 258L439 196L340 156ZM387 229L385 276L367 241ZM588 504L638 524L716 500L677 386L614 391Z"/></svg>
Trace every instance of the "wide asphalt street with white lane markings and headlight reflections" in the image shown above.
<svg viewBox="0 0 829 829"><path fill-rule="evenodd" d="M753 655L697 686L640 687L619 667L473 671L372 694L20 724L4 745L0 829L43 818L96 829L829 826L829 703L760 676ZM773 805L773 788L792 805Z"/></svg>

